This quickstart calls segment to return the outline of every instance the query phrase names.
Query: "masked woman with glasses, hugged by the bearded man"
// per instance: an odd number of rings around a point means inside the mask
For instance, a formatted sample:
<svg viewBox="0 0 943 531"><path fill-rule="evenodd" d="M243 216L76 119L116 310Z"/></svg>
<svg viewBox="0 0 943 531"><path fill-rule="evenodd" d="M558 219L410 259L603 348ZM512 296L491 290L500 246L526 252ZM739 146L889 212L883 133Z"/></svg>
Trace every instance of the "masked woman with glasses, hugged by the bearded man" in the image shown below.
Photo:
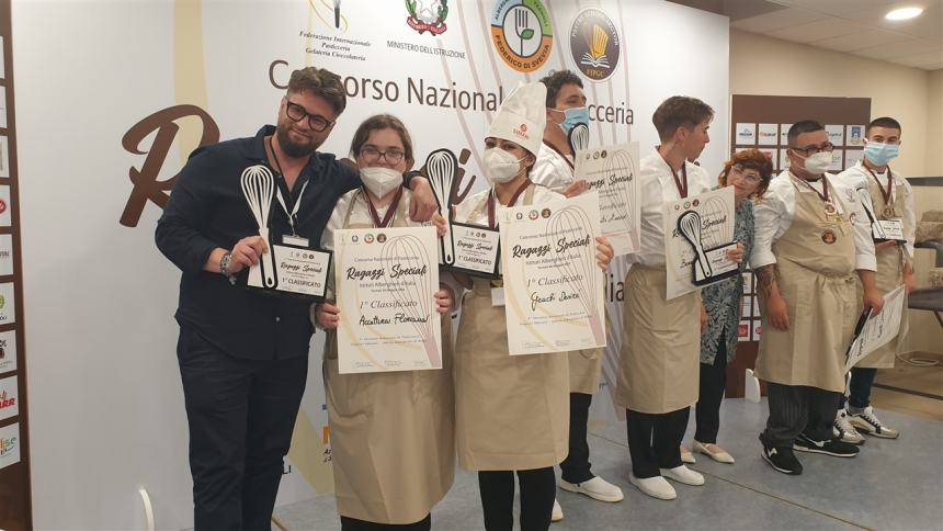
<svg viewBox="0 0 943 531"><path fill-rule="evenodd" d="M363 187L338 201L321 238L333 248L342 228L413 227L410 192L402 173L413 165L412 140L399 118L380 114L364 121L351 143ZM445 219L436 214L440 235ZM333 275L329 275L329 297ZM434 294L447 315L447 286ZM331 433L334 492L343 530L428 530L431 509L452 486L455 470L451 319L442 319L442 369L340 374L332 302L313 307L311 319L327 330L325 395Z"/></svg>

